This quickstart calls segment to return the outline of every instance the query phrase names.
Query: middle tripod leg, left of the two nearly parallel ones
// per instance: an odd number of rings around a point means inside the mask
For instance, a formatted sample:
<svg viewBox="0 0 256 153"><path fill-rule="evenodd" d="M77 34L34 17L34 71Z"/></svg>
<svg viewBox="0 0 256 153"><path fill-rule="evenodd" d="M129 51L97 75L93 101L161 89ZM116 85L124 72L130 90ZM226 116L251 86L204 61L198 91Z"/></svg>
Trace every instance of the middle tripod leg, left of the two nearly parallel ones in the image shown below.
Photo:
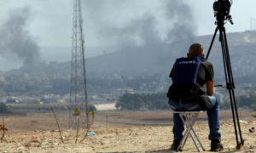
<svg viewBox="0 0 256 153"><path fill-rule="evenodd" d="M233 117L233 122L234 122L234 129L235 129L235 133L236 133L236 144L237 146L240 144L239 140L238 140L238 135L237 135L237 128L236 128L236 115L234 112L234 101L233 101L233 94L231 92L231 88L230 88L230 64L229 64L229 59L228 59L228 54L227 54L227 42L225 42L226 40L224 40L224 29L221 28L219 31L219 38L220 38L220 42L221 42L221 48L222 48L222 54L223 54L223 60L224 60L224 72L225 72L225 79L227 82L227 88L229 89L229 93L230 93L230 105L231 105L231 111L232 111L232 117Z"/></svg>

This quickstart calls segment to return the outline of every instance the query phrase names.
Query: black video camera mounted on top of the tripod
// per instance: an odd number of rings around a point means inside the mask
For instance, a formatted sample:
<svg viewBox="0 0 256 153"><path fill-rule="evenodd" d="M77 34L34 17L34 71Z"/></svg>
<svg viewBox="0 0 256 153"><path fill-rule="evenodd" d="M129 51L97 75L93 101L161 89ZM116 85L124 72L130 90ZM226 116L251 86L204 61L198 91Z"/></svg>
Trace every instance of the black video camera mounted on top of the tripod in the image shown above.
<svg viewBox="0 0 256 153"><path fill-rule="evenodd" d="M213 3L213 10L215 14L229 15L232 1L230 0L218 0Z"/></svg>

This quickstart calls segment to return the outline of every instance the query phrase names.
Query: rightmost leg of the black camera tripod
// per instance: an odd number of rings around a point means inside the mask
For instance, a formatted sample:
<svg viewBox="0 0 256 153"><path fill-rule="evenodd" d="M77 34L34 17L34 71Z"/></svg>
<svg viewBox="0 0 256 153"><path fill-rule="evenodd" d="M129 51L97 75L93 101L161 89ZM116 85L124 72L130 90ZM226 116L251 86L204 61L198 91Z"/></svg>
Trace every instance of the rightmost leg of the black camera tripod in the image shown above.
<svg viewBox="0 0 256 153"><path fill-rule="evenodd" d="M224 42L225 42L226 51L227 51L228 64L229 64L229 67L230 67L230 81L231 81L231 86L232 86L231 94L232 94L232 97L234 98L233 102L234 102L235 112L236 112L236 122L237 122L237 125L238 125L239 135L240 135L240 139L241 139L241 145L243 145L244 140L242 139L242 136L241 136L241 126L240 126L240 122L239 122L239 116L238 116L237 105L236 105L236 96L235 96L235 91L234 91L235 83L234 83L234 78L233 78L233 73L232 73L232 67L231 67L231 64L230 64L231 63L230 62L230 52L229 52L229 48L228 48L225 29L224 29Z"/></svg>

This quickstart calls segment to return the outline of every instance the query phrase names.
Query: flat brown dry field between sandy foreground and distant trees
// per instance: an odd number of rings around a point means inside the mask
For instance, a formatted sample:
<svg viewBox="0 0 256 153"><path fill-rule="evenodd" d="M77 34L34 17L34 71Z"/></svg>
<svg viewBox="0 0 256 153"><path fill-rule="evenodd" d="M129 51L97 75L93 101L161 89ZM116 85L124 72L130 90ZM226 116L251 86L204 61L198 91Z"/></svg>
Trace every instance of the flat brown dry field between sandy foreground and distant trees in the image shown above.
<svg viewBox="0 0 256 153"><path fill-rule="evenodd" d="M61 129L68 127L68 112L55 111ZM252 115L256 112L239 111L241 120L255 120ZM143 125L171 125L172 111L97 111L94 127L105 128L106 116L108 127L134 127ZM220 111L222 122L231 119L230 111ZM202 113L198 121L207 122L207 113ZM27 113L26 116L5 116L5 126L9 127L9 133L25 132L33 130L56 129L55 119L51 112Z"/></svg>

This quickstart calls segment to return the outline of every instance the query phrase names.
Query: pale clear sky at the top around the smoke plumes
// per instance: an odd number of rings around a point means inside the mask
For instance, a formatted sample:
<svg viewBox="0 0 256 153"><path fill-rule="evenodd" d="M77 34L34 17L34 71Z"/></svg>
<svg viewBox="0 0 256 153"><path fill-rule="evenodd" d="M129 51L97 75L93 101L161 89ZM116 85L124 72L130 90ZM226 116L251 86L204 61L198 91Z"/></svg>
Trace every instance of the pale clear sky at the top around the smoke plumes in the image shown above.
<svg viewBox="0 0 256 153"><path fill-rule="evenodd" d="M86 2L89 1L84 1L84 9L87 8ZM116 3L117 1L120 3ZM162 0L98 1L100 2L98 5L102 3L105 6L95 6L95 8L83 10L84 33L87 44L89 46L98 45L100 36L98 36L99 34L95 36L95 33L98 26L104 26L104 22L112 23L115 26L121 25L146 12L156 14L161 20L160 14L158 13L160 1ZM214 31L213 0L184 0L184 2L189 3L189 6L194 12L195 22L198 25L196 34L212 34ZM116 3L116 6L113 5L114 3ZM0 5L0 21L2 22L6 20L7 14L15 8L31 8L32 14L26 28L38 39L39 46L70 46L73 18L72 0L0 0ZM230 26L230 24L227 24L227 31L245 31L250 29L250 18L256 18L254 6L256 6L255 0L234 0L230 14L233 17L235 25ZM94 20L101 20L101 22L96 23ZM168 25L165 25L161 21L160 27L165 26Z"/></svg>

